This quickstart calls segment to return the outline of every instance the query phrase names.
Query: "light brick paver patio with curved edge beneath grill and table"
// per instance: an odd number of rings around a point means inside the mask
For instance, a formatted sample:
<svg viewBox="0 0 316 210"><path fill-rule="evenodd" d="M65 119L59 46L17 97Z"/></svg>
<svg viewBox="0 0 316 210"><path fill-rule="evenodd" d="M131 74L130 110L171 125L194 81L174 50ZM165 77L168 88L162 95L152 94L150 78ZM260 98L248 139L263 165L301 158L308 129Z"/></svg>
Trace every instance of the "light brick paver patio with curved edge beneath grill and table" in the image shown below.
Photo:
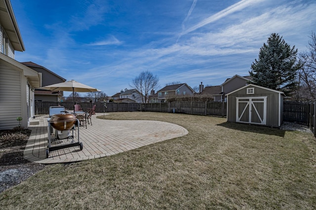
<svg viewBox="0 0 316 210"><path fill-rule="evenodd" d="M24 150L24 157L43 164L76 162L106 157L188 134L185 128L173 123L154 120L104 120L96 118L97 115L103 113L92 115L92 125L87 124L87 129L79 127L82 150L79 146L59 149L51 151L48 158L45 157L48 115L36 117L34 120L39 121L39 125L29 127L32 133Z"/></svg>

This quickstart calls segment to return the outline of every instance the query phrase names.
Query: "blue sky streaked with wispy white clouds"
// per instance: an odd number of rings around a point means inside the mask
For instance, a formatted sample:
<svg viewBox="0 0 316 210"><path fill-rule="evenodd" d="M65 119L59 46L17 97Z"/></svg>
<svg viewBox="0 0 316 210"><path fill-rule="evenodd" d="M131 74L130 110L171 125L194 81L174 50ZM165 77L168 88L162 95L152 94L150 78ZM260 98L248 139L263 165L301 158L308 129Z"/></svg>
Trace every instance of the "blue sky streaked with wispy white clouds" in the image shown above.
<svg viewBox="0 0 316 210"><path fill-rule="evenodd" d="M315 0L11 0L32 61L112 96L141 71L160 88L248 75L272 33L299 51L316 32Z"/></svg>

